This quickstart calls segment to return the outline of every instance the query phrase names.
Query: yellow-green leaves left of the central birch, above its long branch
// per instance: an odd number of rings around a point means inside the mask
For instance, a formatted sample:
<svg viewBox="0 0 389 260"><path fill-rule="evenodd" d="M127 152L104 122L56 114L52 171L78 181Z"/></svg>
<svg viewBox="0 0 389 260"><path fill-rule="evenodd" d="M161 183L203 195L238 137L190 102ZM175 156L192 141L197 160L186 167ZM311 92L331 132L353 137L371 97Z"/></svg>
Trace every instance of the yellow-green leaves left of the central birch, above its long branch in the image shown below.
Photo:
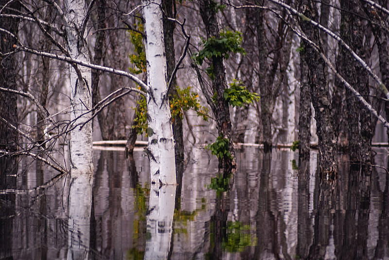
<svg viewBox="0 0 389 260"><path fill-rule="evenodd" d="M139 32L143 32L143 24L138 21L134 24ZM146 72L146 52L144 49L143 39L141 33L130 31L130 41L134 45L134 53L129 55L130 62L134 65L133 68L129 68L131 73L141 74Z"/></svg>

